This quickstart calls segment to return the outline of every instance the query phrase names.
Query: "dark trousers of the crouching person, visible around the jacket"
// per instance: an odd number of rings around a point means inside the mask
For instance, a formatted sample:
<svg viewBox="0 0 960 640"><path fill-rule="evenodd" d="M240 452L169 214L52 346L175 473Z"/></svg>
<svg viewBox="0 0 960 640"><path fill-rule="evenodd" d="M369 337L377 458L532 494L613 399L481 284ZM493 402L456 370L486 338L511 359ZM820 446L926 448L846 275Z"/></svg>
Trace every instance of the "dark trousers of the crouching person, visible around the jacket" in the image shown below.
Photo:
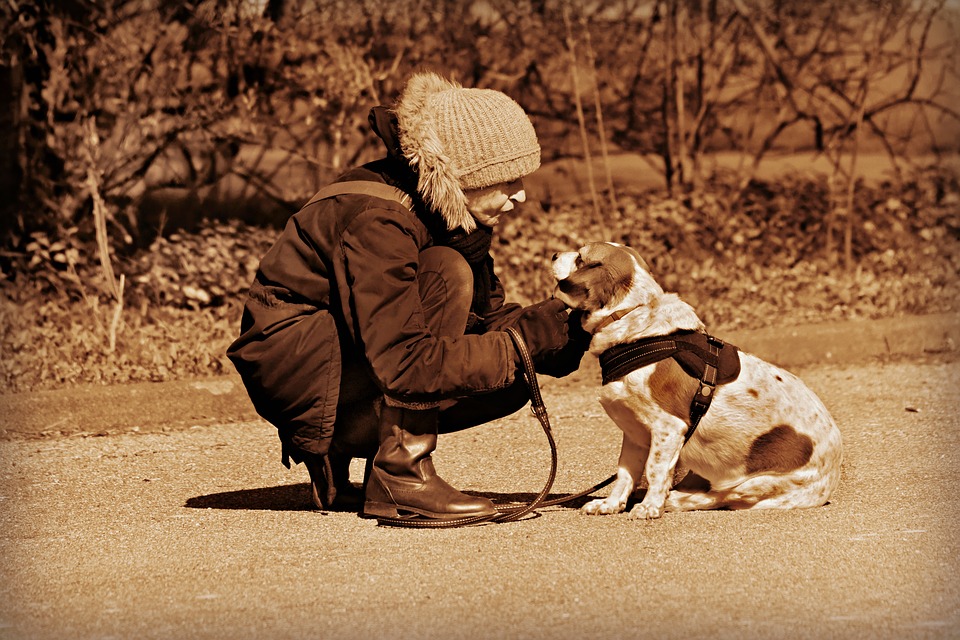
<svg viewBox="0 0 960 640"><path fill-rule="evenodd" d="M449 247L431 247L420 254L417 275L424 319L435 336L462 336L473 300L473 272L463 256ZM496 327L490 327L496 329ZM523 408L529 393L521 376L504 389L442 401L440 433L460 431L502 418ZM362 357L344 354L340 402L333 447L354 457L376 453L382 393Z"/></svg>

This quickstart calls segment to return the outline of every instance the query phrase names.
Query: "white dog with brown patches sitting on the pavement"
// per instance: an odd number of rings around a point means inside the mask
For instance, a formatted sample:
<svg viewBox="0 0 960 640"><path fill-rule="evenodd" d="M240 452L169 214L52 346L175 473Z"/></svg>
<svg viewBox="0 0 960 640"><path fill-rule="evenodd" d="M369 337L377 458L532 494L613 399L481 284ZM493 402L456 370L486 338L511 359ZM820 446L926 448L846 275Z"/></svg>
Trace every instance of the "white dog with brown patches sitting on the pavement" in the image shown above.
<svg viewBox="0 0 960 640"><path fill-rule="evenodd" d="M594 243L554 256L556 297L582 309L598 357L616 345L682 330L703 332L693 308L664 293L630 247ZM689 441L699 380L673 358L604 384L600 403L623 431L617 479L588 514L620 513L646 478L633 518L695 509L796 509L823 505L840 479L840 431L799 378L747 353L740 373L716 387ZM678 463L689 469L675 487ZM672 488L672 490L671 490Z"/></svg>

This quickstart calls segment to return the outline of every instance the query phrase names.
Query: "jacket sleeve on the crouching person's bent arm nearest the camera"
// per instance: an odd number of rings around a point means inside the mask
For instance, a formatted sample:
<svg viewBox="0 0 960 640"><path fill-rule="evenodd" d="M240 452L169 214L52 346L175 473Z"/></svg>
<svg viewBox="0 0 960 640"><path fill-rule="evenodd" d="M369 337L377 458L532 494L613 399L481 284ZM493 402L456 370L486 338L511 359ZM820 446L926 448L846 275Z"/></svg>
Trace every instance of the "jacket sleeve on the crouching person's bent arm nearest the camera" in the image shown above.
<svg viewBox="0 0 960 640"><path fill-rule="evenodd" d="M402 216L370 209L341 235L353 327L388 403L411 408L503 388L513 382L504 333L439 337L420 304L420 245ZM342 296L341 296L342 297Z"/></svg>

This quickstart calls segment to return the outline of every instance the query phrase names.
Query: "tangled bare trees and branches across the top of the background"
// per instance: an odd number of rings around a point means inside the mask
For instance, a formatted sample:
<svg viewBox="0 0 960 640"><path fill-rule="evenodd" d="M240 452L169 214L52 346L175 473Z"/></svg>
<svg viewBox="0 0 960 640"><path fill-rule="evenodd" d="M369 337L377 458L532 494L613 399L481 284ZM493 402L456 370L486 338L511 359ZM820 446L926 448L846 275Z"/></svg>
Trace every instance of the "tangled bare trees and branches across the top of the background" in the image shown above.
<svg viewBox="0 0 960 640"><path fill-rule="evenodd" d="M14 249L37 232L92 236L91 170L114 244L126 247L157 188L202 202L233 181L242 198L229 215L292 211L374 152L367 113L415 69L507 91L537 120L545 161L575 153L566 0L9 4L0 97L15 133L4 240ZM956 43L934 38L948 14L944 0L582 3L576 35L595 72L583 131L650 159L681 194L716 151L739 154L742 189L778 145L800 139L834 161L836 201L849 202L850 159L865 145L900 170L911 145L935 137L935 118L960 122L945 98L956 69L932 64L955 60Z"/></svg>

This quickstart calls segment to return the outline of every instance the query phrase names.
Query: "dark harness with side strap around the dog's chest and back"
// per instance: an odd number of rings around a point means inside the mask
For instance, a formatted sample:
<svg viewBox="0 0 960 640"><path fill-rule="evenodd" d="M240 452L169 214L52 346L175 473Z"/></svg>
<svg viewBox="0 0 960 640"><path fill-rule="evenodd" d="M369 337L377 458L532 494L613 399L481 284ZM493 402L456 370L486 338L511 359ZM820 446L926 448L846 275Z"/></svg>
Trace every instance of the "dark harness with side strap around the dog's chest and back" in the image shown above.
<svg viewBox="0 0 960 640"><path fill-rule="evenodd" d="M733 382L740 375L740 351L732 344L699 331L678 331L667 336L643 338L610 347L600 354L603 384L667 358L676 360L688 376L700 382L690 403L686 442L710 408L717 386Z"/></svg>

